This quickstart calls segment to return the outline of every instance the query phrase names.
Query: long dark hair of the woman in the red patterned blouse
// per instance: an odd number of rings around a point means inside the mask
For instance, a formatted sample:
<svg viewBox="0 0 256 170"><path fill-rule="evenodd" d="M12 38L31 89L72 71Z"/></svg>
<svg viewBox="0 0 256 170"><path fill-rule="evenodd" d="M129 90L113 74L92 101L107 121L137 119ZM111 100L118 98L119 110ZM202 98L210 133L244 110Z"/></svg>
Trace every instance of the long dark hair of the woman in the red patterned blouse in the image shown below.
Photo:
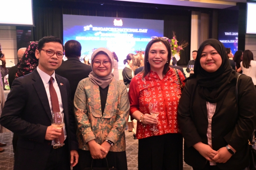
<svg viewBox="0 0 256 170"><path fill-rule="evenodd" d="M168 63L165 63L164 65L164 70L163 70L163 74L165 75L168 70L169 70L169 63L171 61L171 46L170 46L170 43L168 41L163 41L161 40L160 38L156 39L156 40L151 40L148 45L146 46L146 50L145 50L145 56L144 56L144 71L143 71L143 77L145 77L149 72L150 72L150 64L148 62L148 53L149 53L149 49L150 47L152 46L153 43L156 43L156 42L162 42L164 43L164 45L166 46L167 48L167 52L168 52L168 55L167 55L167 61L169 61Z"/></svg>

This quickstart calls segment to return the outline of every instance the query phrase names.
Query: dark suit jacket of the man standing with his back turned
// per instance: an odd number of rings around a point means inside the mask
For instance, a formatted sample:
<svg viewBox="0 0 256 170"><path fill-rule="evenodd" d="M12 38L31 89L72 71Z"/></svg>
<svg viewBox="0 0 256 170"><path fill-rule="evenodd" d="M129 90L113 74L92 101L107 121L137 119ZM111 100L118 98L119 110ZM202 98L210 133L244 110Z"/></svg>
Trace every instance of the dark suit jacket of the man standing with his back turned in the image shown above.
<svg viewBox="0 0 256 170"><path fill-rule="evenodd" d="M55 73L68 79L71 89L71 99L74 101L74 96L76 93L76 87L82 79L89 76L92 71L90 65L81 63L77 57L69 57L68 60L63 61Z"/></svg>

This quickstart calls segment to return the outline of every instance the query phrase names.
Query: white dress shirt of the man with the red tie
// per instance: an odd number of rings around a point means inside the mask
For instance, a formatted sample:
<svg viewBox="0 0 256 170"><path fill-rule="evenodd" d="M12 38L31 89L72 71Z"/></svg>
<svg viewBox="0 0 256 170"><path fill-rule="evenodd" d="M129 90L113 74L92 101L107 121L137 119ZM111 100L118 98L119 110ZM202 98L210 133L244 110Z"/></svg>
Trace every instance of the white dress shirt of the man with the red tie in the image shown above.
<svg viewBox="0 0 256 170"><path fill-rule="evenodd" d="M61 99L61 95L60 95L60 88L58 86L58 83L57 81L55 81L55 71L54 73L52 74L52 76L44 73L44 71L40 70L39 67L36 68L36 70L38 71L43 83L44 83L44 88L46 90L46 93L47 93L47 97L48 97L48 101L49 101L49 105L50 105L50 109L51 109L51 112L52 111L52 101L51 101L51 96L50 96L50 90L49 90L49 81L50 81L50 78L53 77L53 81L52 81L52 84L53 84L53 87L57 93L57 96L58 96L58 101L59 101L59 105L60 105L60 112L63 113L63 105L62 105L62 99ZM63 118L64 118L64 115L63 115ZM67 132L66 132L66 129L65 129L65 125L63 126L63 131L64 131L64 137L65 137L65 140L67 138ZM54 140L52 140L52 145L56 144Z"/></svg>

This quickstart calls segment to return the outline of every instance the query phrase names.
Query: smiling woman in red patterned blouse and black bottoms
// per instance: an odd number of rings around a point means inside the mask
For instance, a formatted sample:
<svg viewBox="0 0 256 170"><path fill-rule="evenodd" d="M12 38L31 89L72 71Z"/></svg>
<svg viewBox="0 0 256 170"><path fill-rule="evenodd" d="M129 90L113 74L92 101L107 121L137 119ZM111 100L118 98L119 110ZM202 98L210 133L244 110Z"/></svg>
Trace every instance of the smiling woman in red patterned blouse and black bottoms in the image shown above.
<svg viewBox="0 0 256 170"><path fill-rule="evenodd" d="M177 109L184 86L181 71L169 67L171 49L168 38L154 38L145 50L144 70L130 83L130 115L138 121L139 170L182 170L182 135ZM160 114L150 115L148 106L158 101ZM156 125L159 131L150 128Z"/></svg>

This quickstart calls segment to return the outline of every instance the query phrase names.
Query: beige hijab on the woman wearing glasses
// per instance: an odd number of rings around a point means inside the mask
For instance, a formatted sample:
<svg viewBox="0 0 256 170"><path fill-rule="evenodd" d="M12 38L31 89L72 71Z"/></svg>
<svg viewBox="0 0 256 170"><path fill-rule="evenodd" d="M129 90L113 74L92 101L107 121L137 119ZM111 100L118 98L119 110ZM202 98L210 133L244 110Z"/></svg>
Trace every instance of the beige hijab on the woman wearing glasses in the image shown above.
<svg viewBox="0 0 256 170"><path fill-rule="evenodd" d="M114 57L112 55L112 52L106 48L100 47L98 49L96 49L95 51L93 51L92 53L92 59L91 61L93 62L94 57L100 52L103 51L104 53L106 53L106 55L108 56L108 58L111 60L111 69L110 69L110 73L108 75L106 75L105 77L100 77L98 76L96 73L94 73L93 71L93 63L91 64L92 66L92 72L90 72L89 74L89 79L92 81L92 83L94 83L95 85L100 86L102 89L105 89L110 82L112 81L114 74L112 73L112 69L114 67Z"/></svg>

